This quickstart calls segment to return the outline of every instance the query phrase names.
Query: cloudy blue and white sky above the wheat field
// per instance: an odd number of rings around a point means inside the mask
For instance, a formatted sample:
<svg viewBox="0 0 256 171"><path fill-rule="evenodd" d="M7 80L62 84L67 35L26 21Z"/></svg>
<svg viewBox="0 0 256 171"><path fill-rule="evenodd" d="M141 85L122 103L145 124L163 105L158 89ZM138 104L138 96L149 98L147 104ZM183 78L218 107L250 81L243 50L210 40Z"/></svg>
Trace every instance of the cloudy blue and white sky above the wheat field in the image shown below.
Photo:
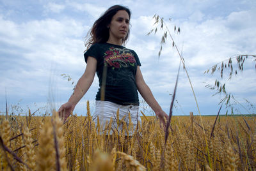
<svg viewBox="0 0 256 171"><path fill-rule="evenodd" d="M185 60L200 114L218 113L223 94L212 96L216 92L205 87L214 85L216 79L225 82L226 90L234 96L234 114L255 113L255 57L249 57L244 71L231 80L228 75L221 79L218 71L214 75L204 73L229 57L256 54L255 0L0 0L1 114L6 112L6 101L9 113L21 115L28 114L28 108L42 115L67 102L86 68L86 35L93 22L114 4L127 6L132 12L131 36L125 47L135 50L140 57L145 82L167 114L180 57L169 35L158 57L164 32L158 29L156 34L147 35L155 27L155 14L163 17ZM180 33L174 27L180 27ZM74 113L85 115L87 100L93 112L98 88L95 76ZM140 102L145 114L154 115L141 97ZM181 68L173 115L197 115L199 111L186 72ZM223 107L220 114L226 111Z"/></svg>

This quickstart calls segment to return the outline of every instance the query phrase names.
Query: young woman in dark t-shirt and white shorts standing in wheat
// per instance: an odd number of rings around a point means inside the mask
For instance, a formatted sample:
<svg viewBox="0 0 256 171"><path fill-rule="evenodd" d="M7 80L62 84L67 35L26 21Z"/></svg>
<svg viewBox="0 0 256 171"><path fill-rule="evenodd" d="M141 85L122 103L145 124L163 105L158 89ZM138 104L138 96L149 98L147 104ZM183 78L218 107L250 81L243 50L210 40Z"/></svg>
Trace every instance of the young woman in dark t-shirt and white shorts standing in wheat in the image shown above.
<svg viewBox="0 0 256 171"><path fill-rule="evenodd" d="M99 91L93 117L99 116L100 124L105 124L112 117L113 125L116 126L116 111L119 109L119 118L126 116L128 119L130 113L132 123L136 126L140 120L138 91L160 121L164 122L167 115L143 79L137 54L123 46L129 38L130 18L131 11L128 8L115 5L93 24L84 53L86 69L68 102L58 110L64 121L88 91L97 73Z"/></svg>

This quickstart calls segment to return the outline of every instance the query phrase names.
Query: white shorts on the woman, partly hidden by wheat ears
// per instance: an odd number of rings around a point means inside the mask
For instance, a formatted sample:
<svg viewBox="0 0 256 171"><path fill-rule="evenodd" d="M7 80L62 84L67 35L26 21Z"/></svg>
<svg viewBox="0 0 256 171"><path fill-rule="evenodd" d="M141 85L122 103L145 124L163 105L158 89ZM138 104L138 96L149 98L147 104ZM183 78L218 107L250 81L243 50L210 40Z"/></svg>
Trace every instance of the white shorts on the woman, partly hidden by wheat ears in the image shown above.
<svg viewBox="0 0 256 171"><path fill-rule="evenodd" d="M133 124L133 133L136 131L136 127L138 124L138 121L141 123L141 118L139 114L139 106L138 105L118 105L116 103L110 102L110 101L96 101L96 107L95 107L95 113L93 114L93 118L95 118L95 123L97 124L97 118L99 116L99 123L103 131L106 124L106 121L110 121L110 119L113 119L113 123L111 125L111 130L109 131L109 134L113 133L113 129L117 129L120 133L121 128L118 128L116 123L116 111L119 108L119 120L122 118L123 121L126 123L127 128L129 126L129 112L131 114L131 121ZM131 130L129 131L129 135L132 135ZM107 131L108 133L108 131ZM126 135L126 133L125 133Z"/></svg>

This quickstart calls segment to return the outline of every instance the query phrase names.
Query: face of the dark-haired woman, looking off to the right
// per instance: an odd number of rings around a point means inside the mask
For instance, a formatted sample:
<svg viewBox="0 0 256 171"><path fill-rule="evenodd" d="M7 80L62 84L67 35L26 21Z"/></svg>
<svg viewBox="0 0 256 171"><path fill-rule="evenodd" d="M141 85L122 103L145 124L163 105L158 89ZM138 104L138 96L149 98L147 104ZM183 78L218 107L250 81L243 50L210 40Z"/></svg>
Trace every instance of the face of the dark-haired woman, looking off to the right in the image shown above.
<svg viewBox="0 0 256 171"><path fill-rule="evenodd" d="M129 31L129 20L127 11L117 11L108 25L109 40L122 41Z"/></svg>

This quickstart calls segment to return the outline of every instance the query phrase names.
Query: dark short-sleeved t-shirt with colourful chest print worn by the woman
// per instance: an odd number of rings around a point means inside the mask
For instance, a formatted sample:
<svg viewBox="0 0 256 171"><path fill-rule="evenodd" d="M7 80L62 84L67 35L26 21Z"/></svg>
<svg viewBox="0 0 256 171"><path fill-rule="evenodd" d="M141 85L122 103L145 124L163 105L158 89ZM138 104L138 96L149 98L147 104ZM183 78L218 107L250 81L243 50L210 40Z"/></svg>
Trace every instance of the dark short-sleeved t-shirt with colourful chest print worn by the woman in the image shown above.
<svg viewBox="0 0 256 171"><path fill-rule="evenodd" d="M100 88L96 100L139 105L135 75L137 66L141 64L134 50L110 43L95 43L84 53L86 63L88 56L97 59Z"/></svg>

